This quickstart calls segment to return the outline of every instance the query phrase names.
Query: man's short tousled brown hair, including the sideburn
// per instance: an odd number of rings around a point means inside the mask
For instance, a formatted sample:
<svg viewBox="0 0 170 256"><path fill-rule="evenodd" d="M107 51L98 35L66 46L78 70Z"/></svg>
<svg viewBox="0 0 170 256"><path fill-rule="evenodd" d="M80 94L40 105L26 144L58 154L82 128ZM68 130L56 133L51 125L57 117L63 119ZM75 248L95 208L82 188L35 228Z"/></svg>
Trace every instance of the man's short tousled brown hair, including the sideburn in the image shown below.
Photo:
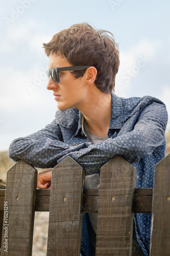
<svg viewBox="0 0 170 256"><path fill-rule="evenodd" d="M87 23L76 24L55 34L43 47L47 56L60 55L72 66L95 67L98 72L95 86L107 94L114 90L119 52L110 32L95 30ZM70 72L75 78L80 78L86 70Z"/></svg>

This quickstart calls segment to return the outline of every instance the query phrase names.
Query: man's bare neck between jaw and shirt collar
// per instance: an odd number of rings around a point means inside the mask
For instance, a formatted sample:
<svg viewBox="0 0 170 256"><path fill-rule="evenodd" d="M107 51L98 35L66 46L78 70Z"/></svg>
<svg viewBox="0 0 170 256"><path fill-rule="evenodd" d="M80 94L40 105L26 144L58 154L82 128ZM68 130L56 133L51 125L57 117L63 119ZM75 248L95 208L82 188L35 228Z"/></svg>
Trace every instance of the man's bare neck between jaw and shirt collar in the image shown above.
<svg viewBox="0 0 170 256"><path fill-rule="evenodd" d="M111 94L98 92L94 97L90 97L84 108L79 110L92 134L98 137L107 136L112 110Z"/></svg>

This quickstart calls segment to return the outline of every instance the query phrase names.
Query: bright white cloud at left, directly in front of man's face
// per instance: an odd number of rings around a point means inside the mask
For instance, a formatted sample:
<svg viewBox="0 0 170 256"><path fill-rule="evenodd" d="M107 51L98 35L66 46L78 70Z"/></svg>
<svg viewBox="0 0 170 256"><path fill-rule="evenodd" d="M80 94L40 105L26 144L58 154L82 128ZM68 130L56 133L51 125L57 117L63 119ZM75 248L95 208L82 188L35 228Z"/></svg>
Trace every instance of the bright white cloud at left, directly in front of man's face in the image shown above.
<svg viewBox="0 0 170 256"><path fill-rule="evenodd" d="M46 90L46 68L35 66L31 71L17 71L13 67L5 67L2 70L3 78L1 78L3 86L0 108L14 111L18 108L28 108L30 103L41 104L43 97L39 95Z"/></svg>

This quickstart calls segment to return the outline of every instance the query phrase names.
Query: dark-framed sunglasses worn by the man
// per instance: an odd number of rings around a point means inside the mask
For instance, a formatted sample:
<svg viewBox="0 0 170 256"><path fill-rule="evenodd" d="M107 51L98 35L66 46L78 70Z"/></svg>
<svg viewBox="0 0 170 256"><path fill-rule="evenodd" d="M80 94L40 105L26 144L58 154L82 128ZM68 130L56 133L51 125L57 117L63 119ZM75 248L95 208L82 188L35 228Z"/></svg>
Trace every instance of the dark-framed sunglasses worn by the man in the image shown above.
<svg viewBox="0 0 170 256"><path fill-rule="evenodd" d="M75 70L84 70L84 69L88 69L90 66L70 66L70 67L63 67L63 68L53 68L51 70L47 70L46 74L48 79L50 78L50 76L52 76L52 80L54 83L58 83L59 82L59 75L58 72L59 71L75 71Z"/></svg>

